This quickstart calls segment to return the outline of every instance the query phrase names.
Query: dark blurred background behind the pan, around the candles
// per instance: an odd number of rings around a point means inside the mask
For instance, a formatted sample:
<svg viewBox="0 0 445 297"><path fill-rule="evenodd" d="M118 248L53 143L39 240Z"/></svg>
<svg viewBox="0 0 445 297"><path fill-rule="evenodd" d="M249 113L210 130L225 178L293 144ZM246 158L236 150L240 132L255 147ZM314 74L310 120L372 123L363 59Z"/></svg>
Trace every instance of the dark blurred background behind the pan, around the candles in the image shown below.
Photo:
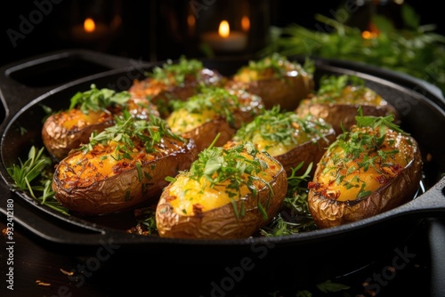
<svg viewBox="0 0 445 297"><path fill-rule="evenodd" d="M351 3L352 0L349 2ZM363 1L363 0L360 0ZM359 2L360 2L359 1ZM379 1L374 1L379 2ZM232 3L232 4L231 4ZM392 1L380 1L382 8L392 12ZM407 0L421 18L422 24L436 24L443 34L442 12L433 0ZM232 6L223 12L218 5ZM203 49L198 33L209 27L217 13L233 14L246 10L251 15L251 37L246 52L255 52L267 42L270 26L285 27L298 24L315 29L314 16L320 13L334 18L344 1L284 0L35 0L8 2L0 12L2 24L0 65L46 52L71 48L142 60L176 59L181 54L201 57ZM6 6L4 4L4 6ZM214 14L216 13L216 14ZM194 20L188 17L193 15ZM107 28L97 30L97 36L85 36L82 28L85 17L92 16Z"/></svg>

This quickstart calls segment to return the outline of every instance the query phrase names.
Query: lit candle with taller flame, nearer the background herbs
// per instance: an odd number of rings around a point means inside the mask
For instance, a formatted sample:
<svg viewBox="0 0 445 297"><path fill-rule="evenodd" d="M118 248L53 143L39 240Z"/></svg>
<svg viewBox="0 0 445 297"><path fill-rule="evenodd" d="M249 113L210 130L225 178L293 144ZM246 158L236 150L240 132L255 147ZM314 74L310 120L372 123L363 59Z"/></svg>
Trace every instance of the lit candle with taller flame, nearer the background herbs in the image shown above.
<svg viewBox="0 0 445 297"><path fill-rule="evenodd" d="M227 20L220 23L218 32L205 33L202 36L204 42L215 51L237 52L246 48L247 36L243 32L231 31Z"/></svg>

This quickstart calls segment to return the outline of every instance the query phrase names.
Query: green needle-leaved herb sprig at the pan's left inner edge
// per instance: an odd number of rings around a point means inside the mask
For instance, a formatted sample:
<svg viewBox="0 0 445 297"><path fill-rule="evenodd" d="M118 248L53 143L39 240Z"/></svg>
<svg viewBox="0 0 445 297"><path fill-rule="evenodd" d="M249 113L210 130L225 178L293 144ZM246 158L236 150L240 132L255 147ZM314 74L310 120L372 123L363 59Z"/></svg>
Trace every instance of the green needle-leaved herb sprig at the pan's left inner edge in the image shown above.
<svg viewBox="0 0 445 297"><path fill-rule="evenodd" d="M52 174L49 169L53 165L51 157L44 154L44 148L37 149L32 146L25 162L19 158L19 165L13 164L7 172L14 180L13 187L28 191L29 195L42 205L69 215L67 208L55 199L52 189Z"/></svg>

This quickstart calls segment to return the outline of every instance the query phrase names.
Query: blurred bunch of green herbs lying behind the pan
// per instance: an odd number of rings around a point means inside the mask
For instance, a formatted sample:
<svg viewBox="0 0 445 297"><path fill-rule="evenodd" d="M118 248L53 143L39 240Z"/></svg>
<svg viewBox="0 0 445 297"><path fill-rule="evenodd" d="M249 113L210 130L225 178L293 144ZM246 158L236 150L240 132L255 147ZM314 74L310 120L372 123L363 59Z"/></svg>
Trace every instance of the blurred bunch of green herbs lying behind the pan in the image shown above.
<svg viewBox="0 0 445 297"><path fill-rule="evenodd" d="M290 24L271 28L271 42L258 53L279 52L285 56L306 55L328 59L352 60L387 68L430 82L445 92L445 36L435 32L434 24L420 25L416 11L401 5L404 27L395 28L391 20L375 15L378 35L363 38L359 28L317 14L317 28Z"/></svg>

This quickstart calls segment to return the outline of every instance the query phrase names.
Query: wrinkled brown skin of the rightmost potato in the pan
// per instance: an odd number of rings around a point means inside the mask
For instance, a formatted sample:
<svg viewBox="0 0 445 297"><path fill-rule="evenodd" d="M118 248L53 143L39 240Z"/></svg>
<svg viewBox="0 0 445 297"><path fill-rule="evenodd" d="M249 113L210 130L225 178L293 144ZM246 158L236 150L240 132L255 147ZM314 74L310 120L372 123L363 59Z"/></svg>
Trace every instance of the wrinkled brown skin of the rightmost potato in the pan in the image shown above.
<svg viewBox="0 0 445 297"><path fill-rule="evenodd" d="M368 197L357 200L338 201L325 197L321 190L310 189L308 195L312 218L320 229L336 227L345 223L360 221L402 205L415 197L422 178L422 157L416 140L412 142L412 161L391 181L373 191ZM314 174L317 184L324 166L320 161Z"/></svg>

